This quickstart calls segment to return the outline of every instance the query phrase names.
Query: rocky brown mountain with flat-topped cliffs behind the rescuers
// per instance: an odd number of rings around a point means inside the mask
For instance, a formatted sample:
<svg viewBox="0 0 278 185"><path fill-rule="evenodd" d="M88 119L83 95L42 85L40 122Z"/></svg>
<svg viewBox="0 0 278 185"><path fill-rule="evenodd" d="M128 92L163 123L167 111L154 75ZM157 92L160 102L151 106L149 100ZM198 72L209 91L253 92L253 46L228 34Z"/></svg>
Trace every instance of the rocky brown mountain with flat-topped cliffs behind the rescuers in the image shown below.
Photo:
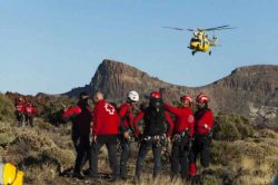
<svg viewBox="0 0 278 185"><path fill-rule="evenodd" d="M160 90L166 101L170 103L183 94L196 97L205 91L216 113L241 114L256 123L278 126L278 66L271 65L237 68L228 77L210 85L189 88L161 81L122 62L103 60L89 85L64 95L76 97L80 91L92 95L101 90L108 99L117 101L125 99L130 89L139 91L141 97L152 90Z"/></svg>

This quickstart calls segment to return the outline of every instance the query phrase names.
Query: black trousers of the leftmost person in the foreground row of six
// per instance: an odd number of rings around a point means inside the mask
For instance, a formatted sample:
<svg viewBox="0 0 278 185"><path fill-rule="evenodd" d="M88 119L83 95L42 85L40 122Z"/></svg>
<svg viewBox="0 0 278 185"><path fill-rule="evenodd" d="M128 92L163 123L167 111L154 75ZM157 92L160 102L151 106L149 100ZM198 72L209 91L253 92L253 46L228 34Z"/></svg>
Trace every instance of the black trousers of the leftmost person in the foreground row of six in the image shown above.
<svg viewBox="0 0 278 185"><path fill-rule="evenodd" d="M77 146L77 158L75 165L75 173L79 174L90 156L90 136L89 134L79 135L79 144Z"/></svg>

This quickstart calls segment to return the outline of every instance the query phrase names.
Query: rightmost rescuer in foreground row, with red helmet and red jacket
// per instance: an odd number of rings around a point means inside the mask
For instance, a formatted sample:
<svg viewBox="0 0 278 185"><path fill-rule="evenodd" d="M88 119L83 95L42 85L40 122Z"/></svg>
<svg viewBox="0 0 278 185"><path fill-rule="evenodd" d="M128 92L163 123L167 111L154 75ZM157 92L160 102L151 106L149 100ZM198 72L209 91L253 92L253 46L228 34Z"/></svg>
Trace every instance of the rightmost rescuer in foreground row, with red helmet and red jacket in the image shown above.
<svg viewBox="0 0 278 185"><path fill-rule="evenodd" d="M196 160L200 154L200 162L206 169L210 162L211 129L214 127L214 115L208 108L209 98L206 94L199 94L196 98L197 111L195 113L195 140L189 154L189 176L196 175Z"/></svg>

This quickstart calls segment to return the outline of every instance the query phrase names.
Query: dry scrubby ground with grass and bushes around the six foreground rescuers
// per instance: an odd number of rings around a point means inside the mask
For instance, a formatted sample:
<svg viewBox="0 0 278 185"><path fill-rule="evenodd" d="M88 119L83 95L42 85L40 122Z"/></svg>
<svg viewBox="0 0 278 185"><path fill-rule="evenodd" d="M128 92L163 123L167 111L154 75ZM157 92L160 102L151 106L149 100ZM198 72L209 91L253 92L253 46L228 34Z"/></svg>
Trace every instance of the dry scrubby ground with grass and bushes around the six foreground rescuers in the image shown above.
<svg viewBox="0 0 278 185"><path fill-rule="evenodd" d="M229 126L221 129L229 129ZM252 129L251 134L242 137L245 135L235 134L229 137L232 139L216 136L211 152L212 173L198 176L198 181L192 184L269 184L278 169L278 134L270 129ZM128 165L129 179L120 184L131 184L137 152L138 147L133 145ZM12 162L24 171L24 184L112 184L108 182L110 169L106 154L106 149L102 149L100 179L72 178L76 154L70 139L70 124L57 127L37 118L33 128L22 128L10 121L0 121L0 156L3 162ZM156 182L151 181L151 153L145 166L141 184L169 182L170 165L167 157L163 159L162 175ZM201 168L198 174L201 174ZM178 181L175 184L185 183Z"/></svg>

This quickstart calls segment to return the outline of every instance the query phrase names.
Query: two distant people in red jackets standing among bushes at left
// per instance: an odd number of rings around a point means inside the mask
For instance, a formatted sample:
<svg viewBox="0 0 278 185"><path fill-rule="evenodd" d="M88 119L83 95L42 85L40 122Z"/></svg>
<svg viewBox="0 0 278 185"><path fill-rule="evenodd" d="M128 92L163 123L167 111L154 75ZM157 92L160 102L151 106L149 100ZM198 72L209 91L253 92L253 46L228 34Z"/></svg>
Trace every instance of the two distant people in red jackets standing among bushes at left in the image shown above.
<svg viewBox="0 0 278 185"><path fill-rule="evenodd" d="M20 126L28 124L33 127L33 116L36 114L36 109L32 104L26 103L23 97L19 97L16 100L14 107L18 124Z"/></svg>

